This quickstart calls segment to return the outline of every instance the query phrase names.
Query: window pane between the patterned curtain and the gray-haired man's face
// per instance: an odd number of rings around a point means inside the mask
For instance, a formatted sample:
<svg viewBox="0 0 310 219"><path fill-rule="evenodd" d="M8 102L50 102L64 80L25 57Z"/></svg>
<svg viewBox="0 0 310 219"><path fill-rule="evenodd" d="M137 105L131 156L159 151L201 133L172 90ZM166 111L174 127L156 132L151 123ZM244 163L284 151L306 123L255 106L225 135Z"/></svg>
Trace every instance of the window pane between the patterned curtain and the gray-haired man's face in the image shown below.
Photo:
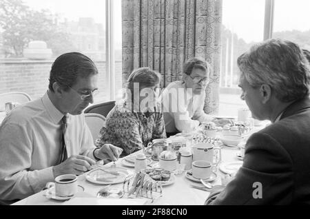
<svg viewBox="0 0 310 219"><path fill-rule="evenodd" d="M264 18L265 0L223 0L220 115L236 116L239 108L247 107L240 99L236 63L240 54L263 40Z"/></svg>

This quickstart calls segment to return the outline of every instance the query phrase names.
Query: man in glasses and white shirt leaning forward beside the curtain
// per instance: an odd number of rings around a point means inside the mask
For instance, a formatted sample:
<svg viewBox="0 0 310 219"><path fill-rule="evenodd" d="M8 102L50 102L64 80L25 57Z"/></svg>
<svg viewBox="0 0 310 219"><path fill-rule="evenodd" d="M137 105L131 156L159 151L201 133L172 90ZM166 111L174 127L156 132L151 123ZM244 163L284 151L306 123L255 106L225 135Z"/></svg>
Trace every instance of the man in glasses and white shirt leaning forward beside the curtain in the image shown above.
<svg viewBox="0 0 310 219"><path fill-rule="evenodd" d="M201 59L185 63L183 80L170 83L162 94L167 136L192 132L200 123L212 121L205 114L205 89L210 79L210 65Z"/></svg>

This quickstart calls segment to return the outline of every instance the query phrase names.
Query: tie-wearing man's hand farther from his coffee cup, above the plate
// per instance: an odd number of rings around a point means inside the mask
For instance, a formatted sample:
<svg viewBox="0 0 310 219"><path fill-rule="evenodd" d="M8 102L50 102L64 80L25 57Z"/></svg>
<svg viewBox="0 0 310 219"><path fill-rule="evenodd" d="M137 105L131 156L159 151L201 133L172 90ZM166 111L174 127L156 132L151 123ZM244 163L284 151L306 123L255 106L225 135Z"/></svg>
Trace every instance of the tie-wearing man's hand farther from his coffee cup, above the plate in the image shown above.
<svg viewBox="0 0 310 219"><path fill-rule="evenodd" d="M112 161L115 161L119 158L122 152L123 149L121 149L120 147L116 147L111 144L104 144L101 148L96 149L94 154L96 158L99 158L101 160L110 159Z"/></svg>

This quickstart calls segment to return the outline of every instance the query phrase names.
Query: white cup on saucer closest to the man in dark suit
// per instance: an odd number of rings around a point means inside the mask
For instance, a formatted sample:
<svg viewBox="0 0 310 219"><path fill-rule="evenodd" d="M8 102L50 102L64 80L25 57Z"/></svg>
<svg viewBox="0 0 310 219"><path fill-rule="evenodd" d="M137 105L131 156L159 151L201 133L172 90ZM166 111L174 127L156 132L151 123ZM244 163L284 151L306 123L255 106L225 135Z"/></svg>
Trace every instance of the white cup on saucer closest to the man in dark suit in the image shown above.
<svg viewBox="0 0 310 219"><path fill-rule="evenodd" d="M192 174L194 178L207 179L211 176L212 171L216 172L216 167L205 160L196 160L192 163Z"/></svg>

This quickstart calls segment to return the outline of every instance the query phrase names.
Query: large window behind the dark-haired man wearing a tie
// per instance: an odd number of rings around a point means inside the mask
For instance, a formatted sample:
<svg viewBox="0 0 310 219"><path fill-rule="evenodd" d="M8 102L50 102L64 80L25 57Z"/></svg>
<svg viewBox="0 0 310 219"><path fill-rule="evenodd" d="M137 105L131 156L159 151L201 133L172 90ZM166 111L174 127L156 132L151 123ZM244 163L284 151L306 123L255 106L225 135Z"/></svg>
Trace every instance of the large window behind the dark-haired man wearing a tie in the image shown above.
<svg viewBox="0 0 310 219"><path fill-rule="evenodd" d="M1 0L0 93L19 91L39 98L48 88L54 59L65 52L77 51L89 56L99 69L100 93L95 103L110 101L111 80L107 76L106 58L112 53L106 54L106 1L110 0ZM15 7L18 11L6 14L4 7L6 10ZM122 86L121 0L114 1L114 8L115 90L119 90Z"/></svg>

